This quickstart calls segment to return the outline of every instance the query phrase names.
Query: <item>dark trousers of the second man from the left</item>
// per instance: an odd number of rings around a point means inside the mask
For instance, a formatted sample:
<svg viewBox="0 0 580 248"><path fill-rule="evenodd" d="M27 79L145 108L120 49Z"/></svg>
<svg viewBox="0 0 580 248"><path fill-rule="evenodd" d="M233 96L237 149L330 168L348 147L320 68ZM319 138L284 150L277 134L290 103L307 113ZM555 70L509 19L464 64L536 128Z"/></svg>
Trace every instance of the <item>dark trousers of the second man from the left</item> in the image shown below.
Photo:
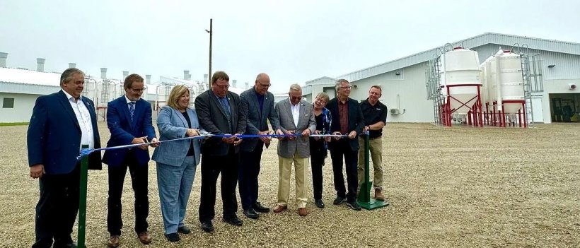
<svg viewBox="0 0 580 248"><path fill-rule="evenodd" d="M121 195L125 175L129 168L131 183L135 194L135 232L145 232L149 227L149 196L147 182L149 180L149 165L138 165L134 153L127 153L122 165L109 167L109 199L107 213L107 230L110 235L121 235L123 220L121 218Z"/></svg>

